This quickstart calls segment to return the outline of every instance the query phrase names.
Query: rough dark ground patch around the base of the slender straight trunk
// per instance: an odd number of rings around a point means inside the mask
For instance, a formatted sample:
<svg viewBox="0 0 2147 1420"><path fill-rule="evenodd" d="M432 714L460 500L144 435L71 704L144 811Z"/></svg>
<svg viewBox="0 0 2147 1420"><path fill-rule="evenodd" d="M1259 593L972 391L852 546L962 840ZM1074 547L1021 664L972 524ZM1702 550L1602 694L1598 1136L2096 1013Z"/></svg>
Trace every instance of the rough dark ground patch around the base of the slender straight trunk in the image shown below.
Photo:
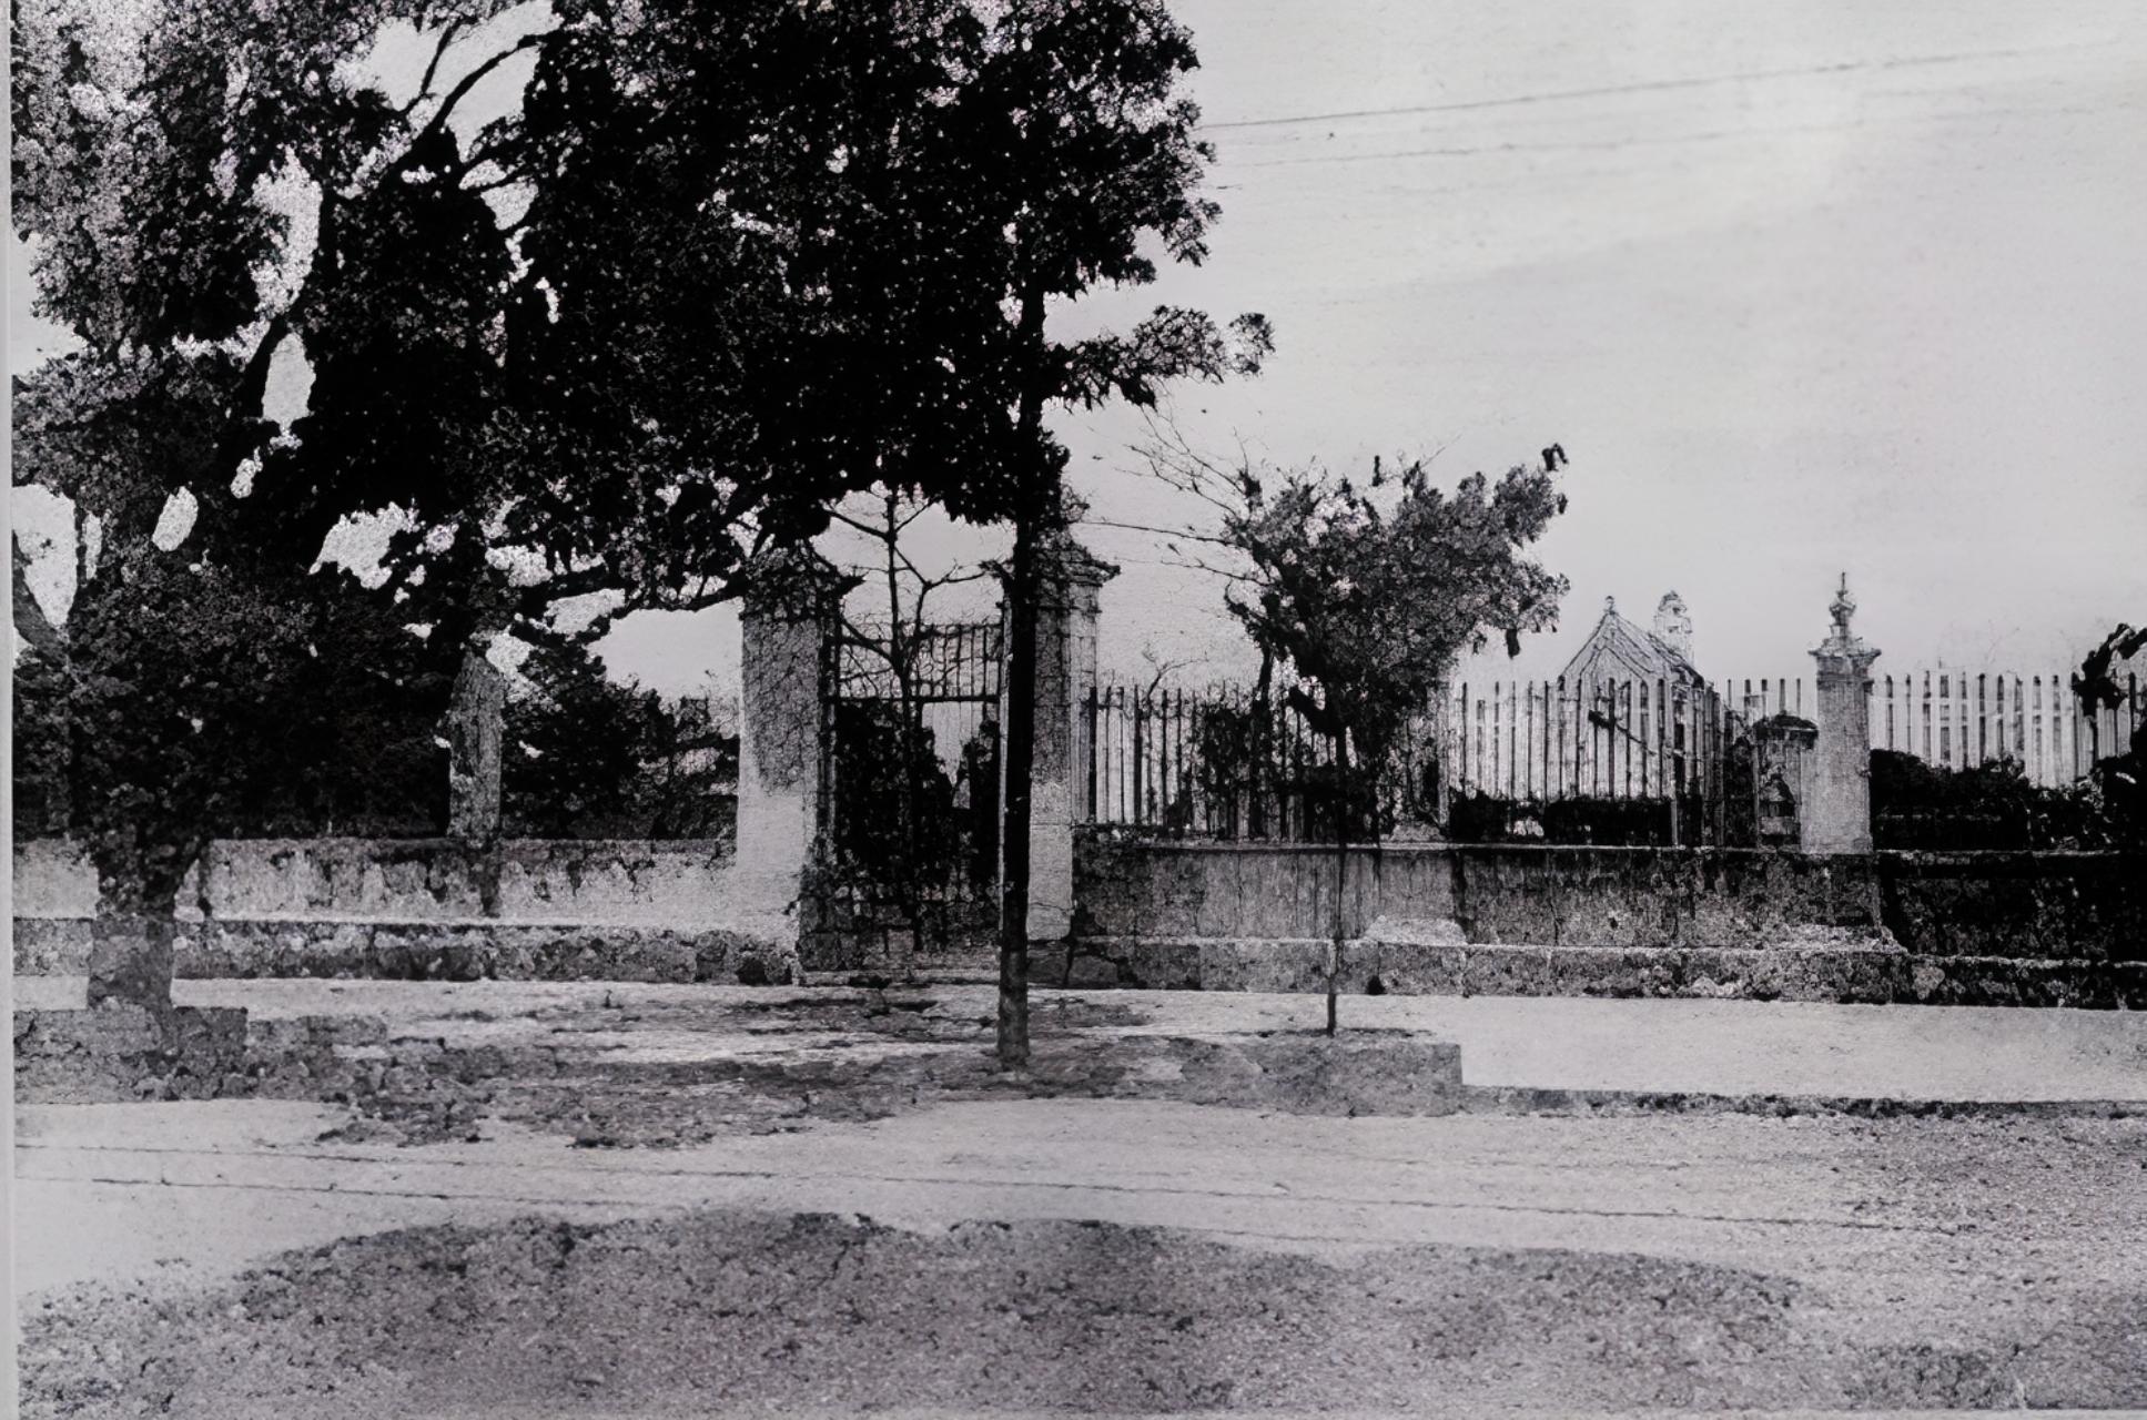
<svg viewBox="0 0 2147 1420"><path fill-rule="evenodd" d="M745 1023L741 1025L741 1016ZM1348 1091L1318 1072L1295 1078L1320 1053L1316 1031L1239 1040L1097 1033L1142 1020L1116 1003L1043 1001L1028 1070L998 1070L990 1016L962 1016L928 997L771 999L728 1005L724 1029L773 1038L777 1048L721 1053L706 1042L706 1008L558 1010L530 1018L498 1044L399 1038L324 1063L292 1087L301 1098L352 1104L359 1117L331 1130L339 1141L438 1143L481 1139L487 1119L582 1147L676 1147L726 1134L782 1132L816 1121L885 1119L953 1100L1151 1098L1198 1104L1357 1113ZM702 1035L696 1035L702 1031ZM685 1040L666 1059L666 1035ZM1288 1048L1284 1035L1301 1035ZM642 1048L631 1048L640 1044ZM1378 1053L1387 1100L1363 1113L1436 1113L1441 1070L1408 1031L1350 1031L1344 1048ZM1451 1106L1451 1100L1447 1102Z"/></svg>

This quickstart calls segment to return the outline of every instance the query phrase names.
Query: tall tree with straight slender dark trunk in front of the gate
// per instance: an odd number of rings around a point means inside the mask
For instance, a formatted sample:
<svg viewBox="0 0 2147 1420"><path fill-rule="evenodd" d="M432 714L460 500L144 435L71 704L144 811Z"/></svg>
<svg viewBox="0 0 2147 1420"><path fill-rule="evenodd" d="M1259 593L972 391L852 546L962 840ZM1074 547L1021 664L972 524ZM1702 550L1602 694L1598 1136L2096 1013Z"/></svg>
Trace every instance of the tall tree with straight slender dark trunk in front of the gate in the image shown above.
<svg viewBox="0 0 2147 1420"><path fill-rule="evenodd" d="M1007 0L949 26L960 54L943 122L951 165L943 260L962 275L949 329L975 455L925 488L960 518L1011 522L1007 567L1005 818L998 1059L1028 1059L1028 827L1035 765L1035 627L1046 550L1063 533L1067 451L1054 408L1121 397L1151 406L1179 378L1252 374L1271 348L1262 316L1230 329L1157 307L1125 333L1063 339L1050 314L1097 288L1155 281L1157 258L1200 262L1219 215L1202 195L1213 148L1181 92L1192 34L1162 0ZM968 408L960 412L968 412ZM1001 421L1003 417L1003 421Z"/></svg>

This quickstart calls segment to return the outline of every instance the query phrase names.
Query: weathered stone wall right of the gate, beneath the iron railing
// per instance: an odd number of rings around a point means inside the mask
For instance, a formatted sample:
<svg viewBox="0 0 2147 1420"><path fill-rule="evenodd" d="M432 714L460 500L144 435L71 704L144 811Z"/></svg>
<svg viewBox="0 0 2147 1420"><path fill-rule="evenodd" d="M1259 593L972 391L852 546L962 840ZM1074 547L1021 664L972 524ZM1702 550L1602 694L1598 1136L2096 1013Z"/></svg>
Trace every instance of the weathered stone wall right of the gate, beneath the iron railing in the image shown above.
<svg viewBox="0 0 2147 1420"><path fill-rule="evenodd" d="M2147 960L2147 864L2115 853L1157 844L1082 836L1086 939L1323 941L1454 922L1479 945L1778 947ZM1340 913L1338 913L1340 902Z"/></svg>

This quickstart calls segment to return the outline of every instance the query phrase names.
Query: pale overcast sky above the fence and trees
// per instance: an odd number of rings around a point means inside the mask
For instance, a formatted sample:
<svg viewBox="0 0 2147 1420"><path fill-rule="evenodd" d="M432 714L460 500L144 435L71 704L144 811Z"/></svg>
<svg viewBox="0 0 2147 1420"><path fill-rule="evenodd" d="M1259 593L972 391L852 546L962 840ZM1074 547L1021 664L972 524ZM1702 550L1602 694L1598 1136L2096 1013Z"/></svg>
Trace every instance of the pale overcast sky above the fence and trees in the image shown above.
<svg viewBox="0 0 2147 1420"><path fill-rule="evenodd" d="M1265 376L1185 389L1230 455L1449 479L1572 455L1542 546L1554 672L1604 597L1683 593L1709 675L1808 675L1834 578L1881 670L2055 670L2147 617L2147 11L2061 4L1185 0L1224 221L1200 271L1106 296L1265 311ZM19 249L11 275L21 275ZM11 305L17 363L45 342ZM1065 417L1099 516L1196 509L1127 410ZM1155 539L1106 670L1241 672L1219 589ZM614 670L734 683L724 614L644 619Z"/></svg>

